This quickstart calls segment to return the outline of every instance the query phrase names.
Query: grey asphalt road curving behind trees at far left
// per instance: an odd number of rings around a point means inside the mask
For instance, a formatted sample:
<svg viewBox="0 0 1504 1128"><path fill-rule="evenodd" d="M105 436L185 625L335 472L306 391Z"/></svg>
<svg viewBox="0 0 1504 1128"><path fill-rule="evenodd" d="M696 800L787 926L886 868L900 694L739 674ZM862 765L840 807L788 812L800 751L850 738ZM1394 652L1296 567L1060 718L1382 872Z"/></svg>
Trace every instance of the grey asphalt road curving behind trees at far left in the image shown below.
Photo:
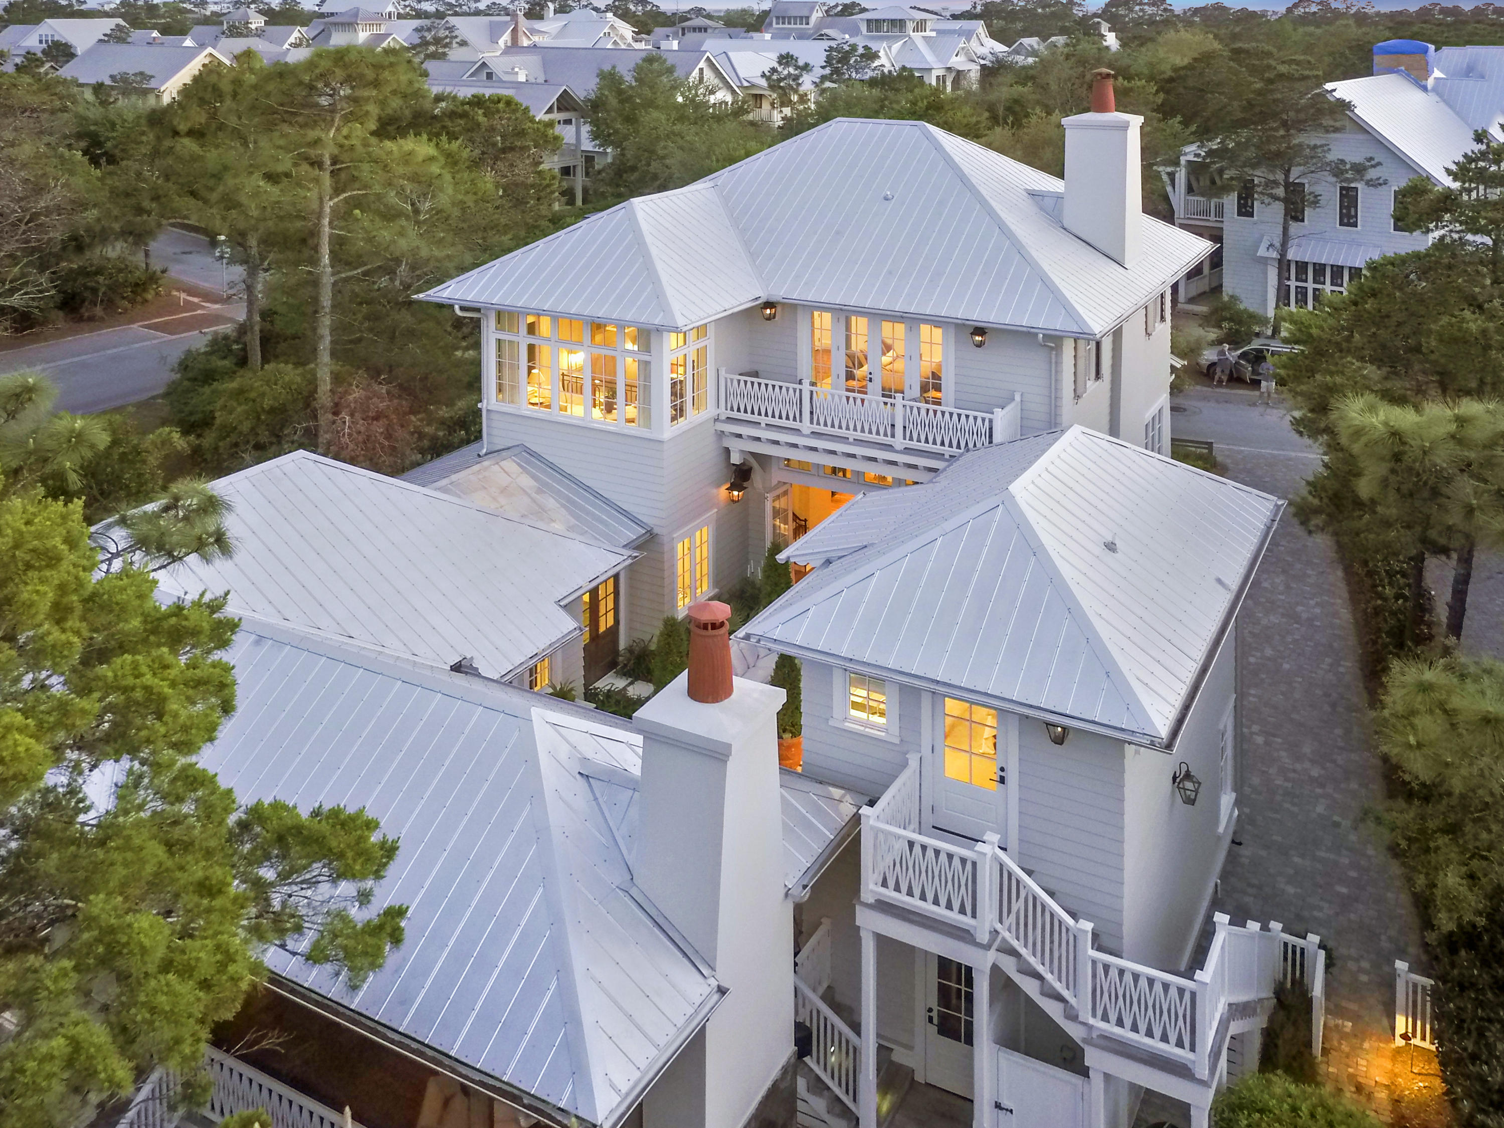
<svg viewBox="0 0 1504 1128"><path fill-rule="evenodd" d="M165 266L174 278L220 290L221 266L212 244L202 236L168 227L152 242L152 263ZM232 293L239 281L239 269L232 268ZM242 317L245 307L230 305L224 313ZM167 331L123 325L14 349L0 353L0 373L27 370L47 374L57 385L56 406L60 411L89 414L123 408L159 396L173 378L177 358L205 337L199 331L173 334L171 325L162 328Z"/></svg>

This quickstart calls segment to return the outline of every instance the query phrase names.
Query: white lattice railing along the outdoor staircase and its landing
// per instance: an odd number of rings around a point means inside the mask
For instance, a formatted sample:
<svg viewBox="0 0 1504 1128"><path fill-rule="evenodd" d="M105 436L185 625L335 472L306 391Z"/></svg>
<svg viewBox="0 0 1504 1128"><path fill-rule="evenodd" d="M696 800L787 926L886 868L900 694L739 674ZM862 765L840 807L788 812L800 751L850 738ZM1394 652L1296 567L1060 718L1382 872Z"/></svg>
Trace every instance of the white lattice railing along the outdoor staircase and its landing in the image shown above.
<svg viewBox="0 0 1504 1128"><path fill-rule="evenodd" d="M957 847L923 833L920 758L862 811L862 899L886 901L960 925L978 943L1000 934L1078 1021L1098 1033L1190 1065L1206 1078L1214 1038L1230 1006L1269 999L1277 982L1302 979L1313 994L1311 1044L1321 1045L1325 955L1319 940L1232 925L1218 913L1206 963L1194 978L1092 948L1092 923L1074 919L988 835Z"/></svg>

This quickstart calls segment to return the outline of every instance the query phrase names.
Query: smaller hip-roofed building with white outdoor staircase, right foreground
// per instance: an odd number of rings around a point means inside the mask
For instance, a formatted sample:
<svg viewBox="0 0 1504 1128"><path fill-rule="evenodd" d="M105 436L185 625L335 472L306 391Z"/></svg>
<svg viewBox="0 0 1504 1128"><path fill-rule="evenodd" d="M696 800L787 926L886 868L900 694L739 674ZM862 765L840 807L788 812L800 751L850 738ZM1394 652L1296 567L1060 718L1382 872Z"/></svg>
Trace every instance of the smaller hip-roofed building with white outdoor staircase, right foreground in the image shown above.
<svg viewBox="0 0 1504 1128"><path fill-rule="evenodd" d="M1218 926L1190 969L1238 820L1236 615L1280 511L1074 426L781 555L812 572L737 638L802 662L803 772L880 796L796 942L827 932L826 1002L859 1017L862 1083L823 1080L863 1126L911 1071L976 1128L1128 1128L1146 1089L1205 1128L1250 1068L1259 961L1314 943Z"/></svg>

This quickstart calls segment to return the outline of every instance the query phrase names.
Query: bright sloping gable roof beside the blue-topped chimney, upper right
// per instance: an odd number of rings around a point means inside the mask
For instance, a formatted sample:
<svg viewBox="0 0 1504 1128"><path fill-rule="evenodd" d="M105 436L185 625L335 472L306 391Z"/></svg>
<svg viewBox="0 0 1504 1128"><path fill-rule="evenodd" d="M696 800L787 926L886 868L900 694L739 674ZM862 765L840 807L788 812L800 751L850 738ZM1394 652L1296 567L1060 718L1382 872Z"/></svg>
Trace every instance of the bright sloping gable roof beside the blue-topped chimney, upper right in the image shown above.
<svg viewBox="0 0 1504 1128"><path fill-rule="evenodd" d="M1468 123L1400 71L1327 83L1327 90L1351 102L1349 117L1436 183L1450 185L1447 165L1472 147Z"/></svg>

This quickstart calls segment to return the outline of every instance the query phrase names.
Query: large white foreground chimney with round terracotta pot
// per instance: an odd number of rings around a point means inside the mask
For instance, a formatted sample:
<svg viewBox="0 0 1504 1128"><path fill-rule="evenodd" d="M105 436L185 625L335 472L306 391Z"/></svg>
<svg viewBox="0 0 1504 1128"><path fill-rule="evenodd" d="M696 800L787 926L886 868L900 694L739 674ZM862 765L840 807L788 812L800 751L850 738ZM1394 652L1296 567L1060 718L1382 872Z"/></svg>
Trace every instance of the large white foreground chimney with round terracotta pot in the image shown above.
<svg viewBox="0 0 1504 1128"><path fill-rule="evenodd" d="M794 1048L794 914L784 887L778 710L731 677L725 603L690 609L690 666L638 710L638 887L728 990L644 1101L663 1128L740 1128Z"/></svg>

